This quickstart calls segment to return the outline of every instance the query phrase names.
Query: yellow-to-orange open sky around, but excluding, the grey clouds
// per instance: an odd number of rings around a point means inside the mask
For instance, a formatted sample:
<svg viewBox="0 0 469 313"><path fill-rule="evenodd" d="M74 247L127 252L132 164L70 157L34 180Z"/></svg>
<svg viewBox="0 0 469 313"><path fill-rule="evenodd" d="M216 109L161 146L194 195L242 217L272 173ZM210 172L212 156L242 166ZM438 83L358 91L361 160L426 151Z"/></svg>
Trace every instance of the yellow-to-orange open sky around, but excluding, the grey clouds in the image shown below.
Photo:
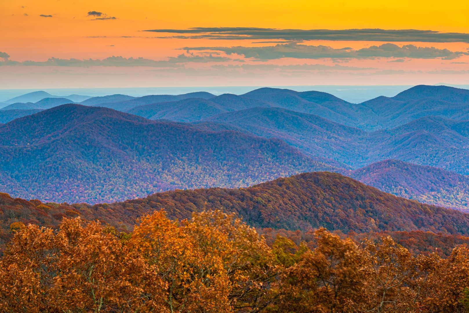
<svg viewBox="0 0 469 313"><path fill-rule="evenodd" d="M93 20L93 16L87 16L89 11L102 12L101 17L115 17L115 19ZM43 17L40 15L52 15ZM184 51L178 50L184 46L269 46L273 44L252 44L253 40L209 40L209 39L174 39L155 38L168 34L143 32L147 29L187 29L190 27L261 27L278 29L362 29L381 28L386 30L432 30L441 32L469 33L469 1L448 1L444 5L441 1L368 1L368 0L327 0L319 1L279 1L279 0L238 0L238 1L214 1L214 0L12 0L2 1L0 4L0 52L8 53L12 61L46 61L51 57L61 59L104 59L115 55L129 57L144 57L151 60L167 60L167 57L175 57ZM130 38L123 38L127 36ZM370 41L307 41L305 45L324 45L333 48L351 47L360 49L372 45L380 45L386 42ZM414 44L423 47L435 47L449 49L451 51L468 51L469 44L460 43L409 43L394 42L399 46ZM197 52L193 51L194 53ZM225 54L221 54L227 56ZM228 55L229 58L238 61L225 61L222 64L234 65L249 63L259 64L257 60L245 59L241 55ZM1 61L1 59L0 59ZM340 61L340 62L339 62ZM388 62L389 59L376 58L370 60L333 60L333 59L276 59L262 61L268 64L325 64L340 63L352 67L374 68L368 71L368 75L375 74L375 78L360 78L364 82L379 81L380 84L398 84L403 80L402 73L407 71L410 76L408 81L444 82L469 84L469 56L462 55L453 60L406 60L405 62ZM192 62L193 63L193 62ZM60 69L53 67L36 66L3 66L0 67L0 84L3 88L18 88L21 84L21 75L28 76L27 81L34 80L31 77L49 77L44 81L50 84L86 84L99 82L99 78L90 78L101 75L110 77L127 73L134 77L136 84L190 84L194 85L194 77L199 78L197 83L207 84L298 84L301 79L308 77L311 84L326 81L332 84L337 81L342 84L350 77L356 77L357 73L331 72L336 79L324 78L327 73L296 72L295 77L285 77L288 72L277 71L277 76L272 72L243 72L236 73L212 73L211 67L219 63L186 64L186 70L180 73L177 70L158 72L157 69L125 69L105 68L77 69L74 67ZM192 72L189 73L190 69ZM386 72L384 76L383 71ZM390 70L396 72L390 74ZM83 72L87 72L83 74ZM204 72L203 72L204 71ZM419 72L420 71L420 72ZM437 75L429 72L440 71L446 74ZM448 72L452 71L452 72ZM468 71L467 73L463 71ZM158 72L158 79L148 82L149 75ZM203 72L203 73L202 73ZM381 74L376 74L377 72ZM457 73L456 73L457 72ZM53 74L51 74L53 73ZM62 74L59 74L62 73ZM75 73L76 75L71 75ZM148 74L151 73L151 74ZM301 75L300 75L301 74ZM350 76L350 75L355 76ZM32 75L32 76L31 76ZM236 76L238 75L238 76ZM283 75L283 76L282 76ZM320 76L323 75L323 76ZM381 75L377 79L376 75ZM50 77L60 77L50 80ZM125 76L125 75L124 75ZM139 80L138 76L144 77ZM326 75L327 76L327 75ZM359 75L360 77L362 74ZM372 76L372 75L371 75ZM18 78L20 77L20 78ZM220 78L222 77L222 78ZM257 78L256 78L257 77ZM269 80L265 81L265 78ZM111 79L111 78L110 78ZM355 78L356 79L356 78ZM37 79L36 79L37 80ZM79 81L84 80L84 83ZM277 80L277 81L276 81ZM411 83L412 83L411 82ZM123 78L112 78L110 84L123 85ZM261 84L259 84L261 83ZM95 83L93 83L95 84ZM103 84L103 83L101 83ZM38 83L36 83L38 85Z"/></svg>

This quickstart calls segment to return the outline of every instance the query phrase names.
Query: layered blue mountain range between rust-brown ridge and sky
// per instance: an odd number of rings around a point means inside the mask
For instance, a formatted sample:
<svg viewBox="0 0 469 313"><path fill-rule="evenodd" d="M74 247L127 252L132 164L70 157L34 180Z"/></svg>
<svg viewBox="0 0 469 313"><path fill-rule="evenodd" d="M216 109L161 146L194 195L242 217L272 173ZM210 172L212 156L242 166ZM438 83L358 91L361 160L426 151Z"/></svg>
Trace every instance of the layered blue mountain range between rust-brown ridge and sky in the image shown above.
<svg viewBox="0 0 469 313"><path fill-rule="evenodd" d="M116 94L84 99L88 107L57 106L70 99L48 97L26 103L36 111L0 111L0 123L7 123L0 125L6 173L0 187L24 198L96 203L329 170L467 210L468 99L468 90L425 85L361 104L275 88ZM30 173L51 182L44 188Z"/></svg>

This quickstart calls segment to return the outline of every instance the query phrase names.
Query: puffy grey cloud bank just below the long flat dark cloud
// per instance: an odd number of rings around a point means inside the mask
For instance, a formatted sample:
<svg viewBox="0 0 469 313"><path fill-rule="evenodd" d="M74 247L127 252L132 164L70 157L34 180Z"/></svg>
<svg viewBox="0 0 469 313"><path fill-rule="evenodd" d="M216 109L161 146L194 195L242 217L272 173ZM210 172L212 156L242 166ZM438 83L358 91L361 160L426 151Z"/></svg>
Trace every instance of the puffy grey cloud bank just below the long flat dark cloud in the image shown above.
<svg viewBox="0 0 469 313"><path fill-rule="evenodd" d="M394 44L383 44L381 46L371 46L359 50L350 47L335 49L330 46L307 46L297 43L278 44L275 46L262 47L185 47L184 50L200 51L222 51L227 54L244 55L247 58L257 60L273 60L281 58L298 59L320 59L320 58L377 58L377 57L398 57L416 59L443 58L451 60L461 55L469 55L467 52L452 52L448 49L438 49L434 47L417 47L414 45L397 46Z"/></svg>

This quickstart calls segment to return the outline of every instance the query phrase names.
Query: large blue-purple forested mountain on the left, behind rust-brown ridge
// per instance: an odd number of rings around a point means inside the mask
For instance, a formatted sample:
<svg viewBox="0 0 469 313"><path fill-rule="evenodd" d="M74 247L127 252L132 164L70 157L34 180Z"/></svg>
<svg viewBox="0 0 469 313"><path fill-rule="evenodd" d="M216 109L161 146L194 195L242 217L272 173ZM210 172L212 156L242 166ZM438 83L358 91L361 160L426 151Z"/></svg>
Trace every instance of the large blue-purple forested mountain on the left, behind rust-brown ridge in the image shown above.
<svg viewBox="0 0 469 313"><path fill-rule="evenodd" d="M278 139L63 105L1 126L0 170L15 197L96 203L336 168Z"/></svg>

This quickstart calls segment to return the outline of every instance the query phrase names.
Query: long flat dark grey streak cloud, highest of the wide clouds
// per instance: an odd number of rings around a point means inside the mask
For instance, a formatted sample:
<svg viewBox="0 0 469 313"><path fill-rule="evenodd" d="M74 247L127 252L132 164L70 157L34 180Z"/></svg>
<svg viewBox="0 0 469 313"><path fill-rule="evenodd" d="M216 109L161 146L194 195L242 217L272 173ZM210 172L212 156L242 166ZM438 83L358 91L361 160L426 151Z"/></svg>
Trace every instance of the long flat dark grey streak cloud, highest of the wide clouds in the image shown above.
<svg viewBox="0 0 469 313"><path fill-rule="evenodd" d="M467 33L447 33L422 30L294 30L252 27L194 27L189 29L145 30L157 33L181 34L174 38L191 39L282 39L287 41L305 40L347 40L347 41L388 41L388 42L466 42Z"/></svg>

